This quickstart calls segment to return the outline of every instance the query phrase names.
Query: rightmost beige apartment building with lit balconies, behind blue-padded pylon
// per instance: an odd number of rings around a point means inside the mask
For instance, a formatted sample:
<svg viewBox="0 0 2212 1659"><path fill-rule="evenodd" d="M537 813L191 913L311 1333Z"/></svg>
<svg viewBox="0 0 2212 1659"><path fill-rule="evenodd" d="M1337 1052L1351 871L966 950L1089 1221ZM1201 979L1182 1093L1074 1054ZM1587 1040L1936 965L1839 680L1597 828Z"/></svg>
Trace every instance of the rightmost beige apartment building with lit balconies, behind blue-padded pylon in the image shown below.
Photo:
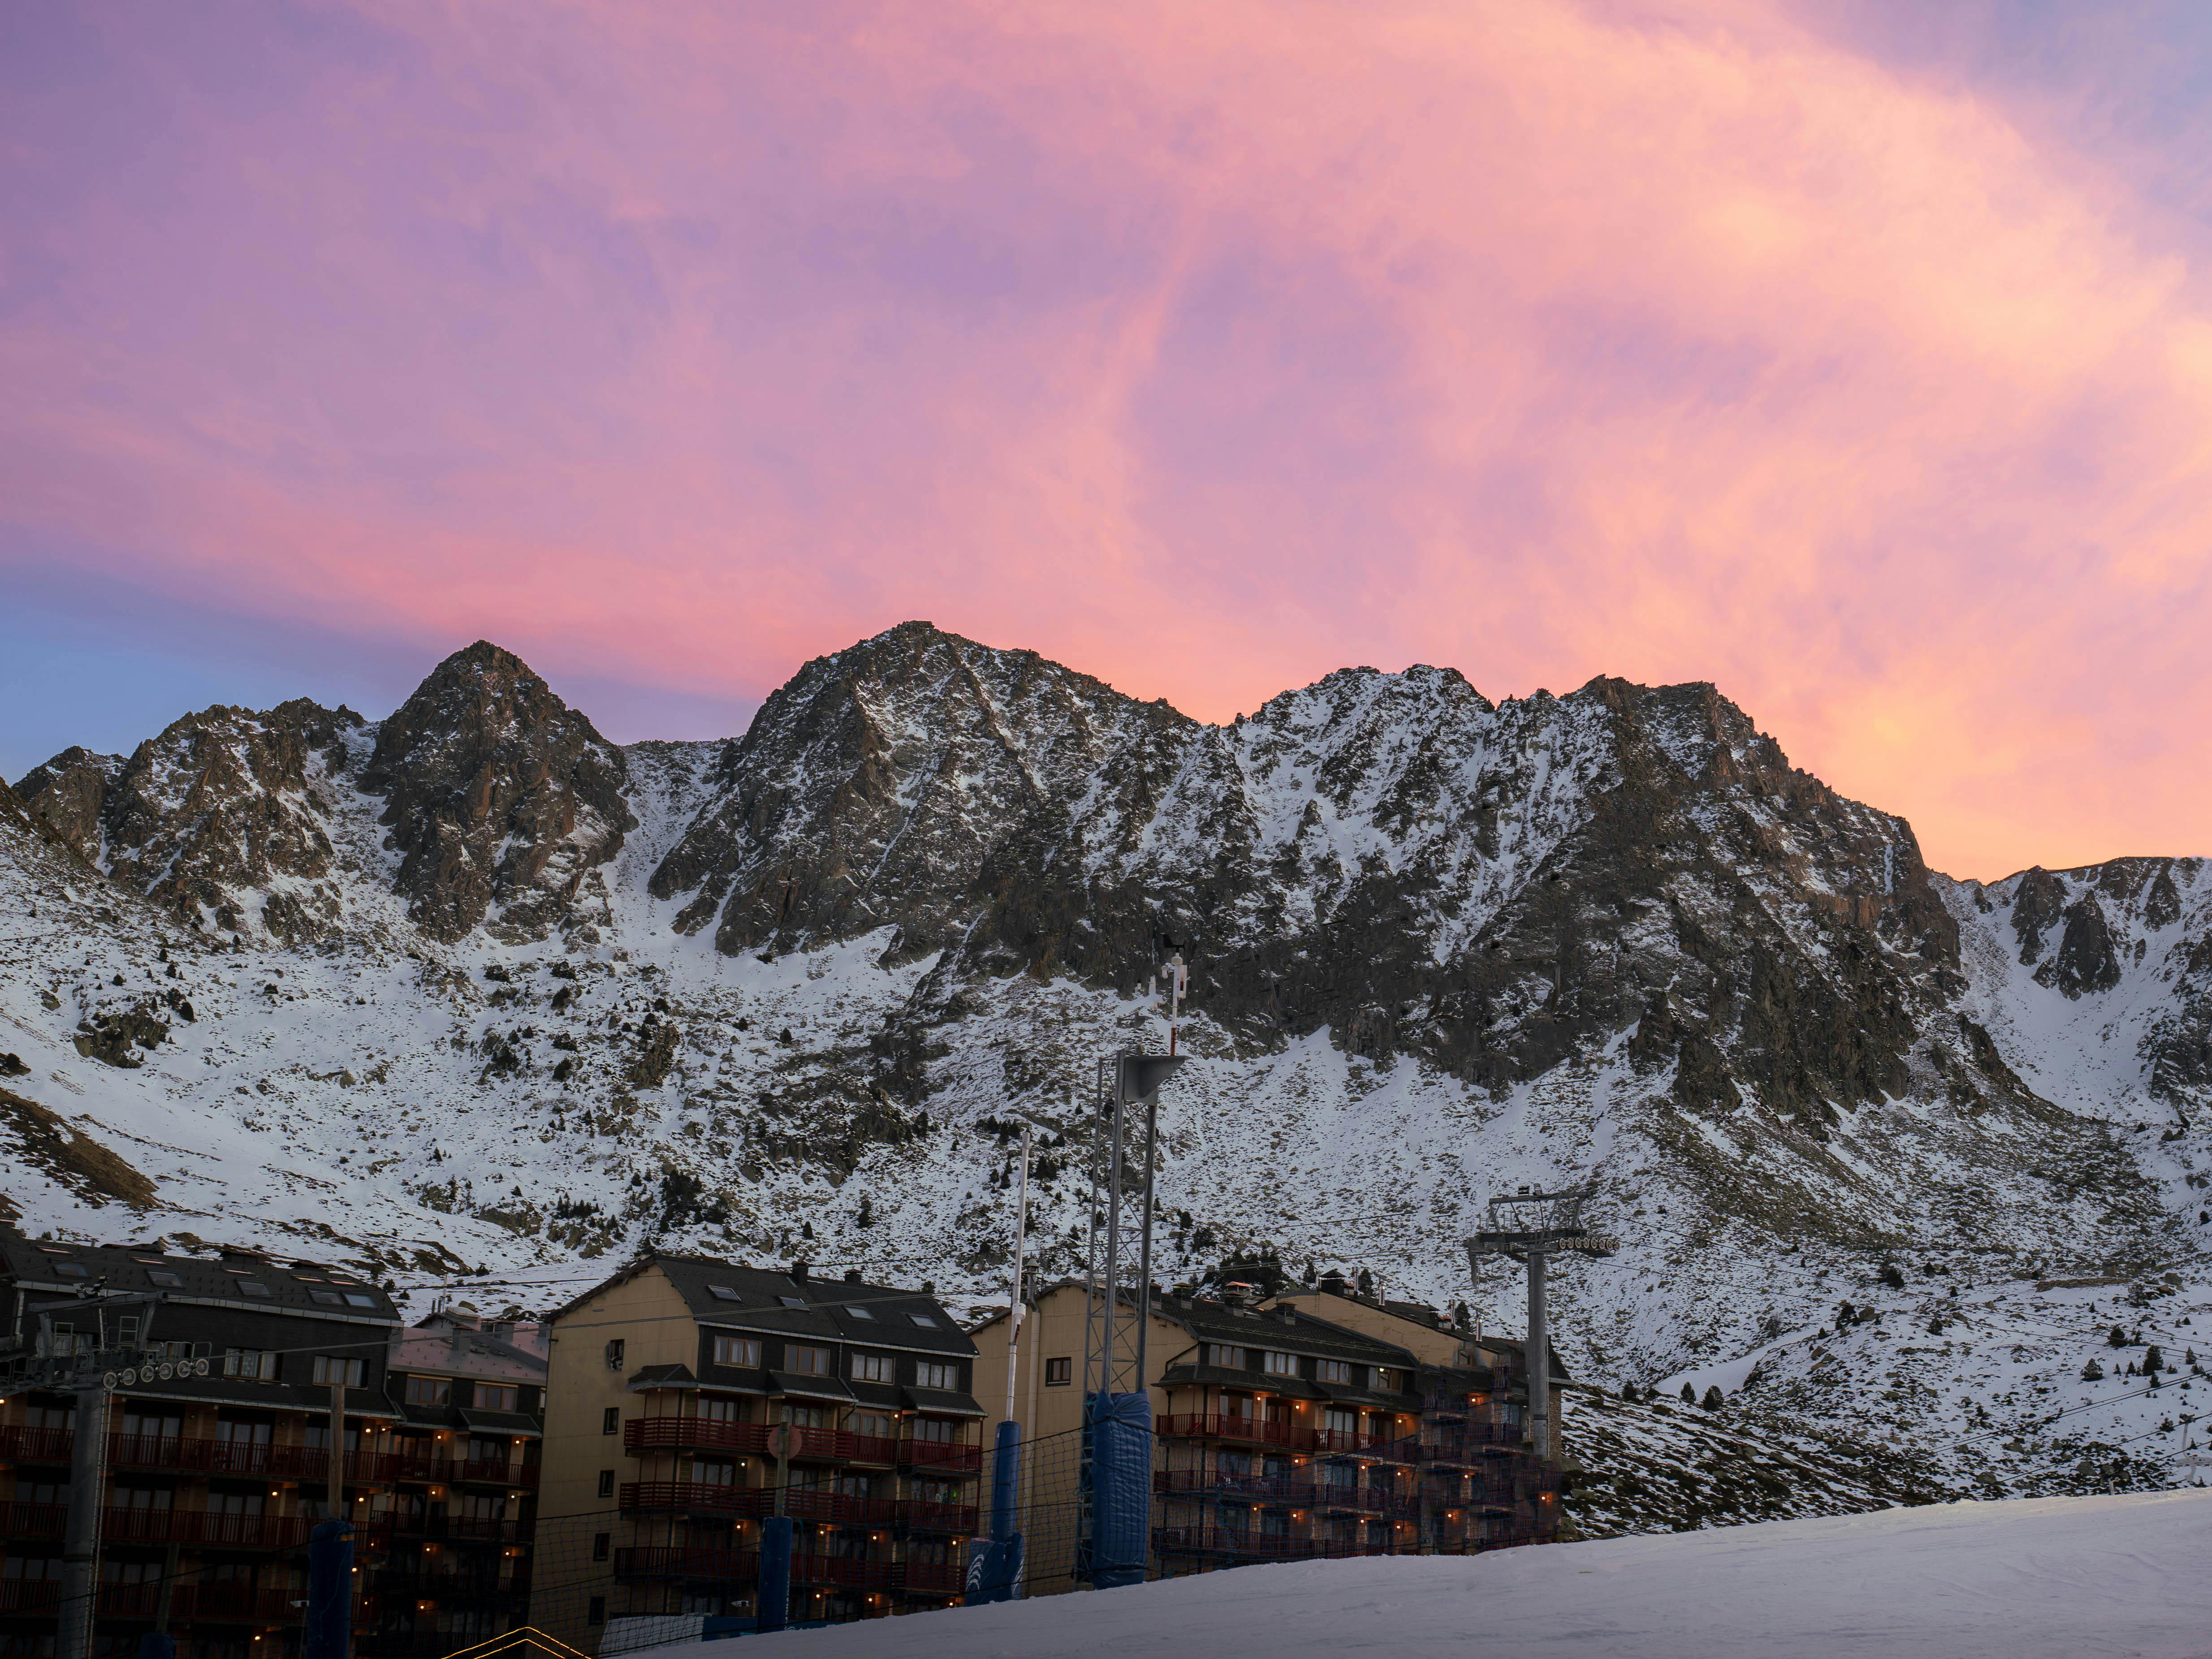
<svg viewBox="0 0 2212 1659"><path fill-rule="evenodd" d="M1077 1584L1088 1292L1044 1290L1024 1316L1015 1411L1031 1595ZM1336 1301L1325 1312L1336 1312ZM1135 1310L1130 1310L1135 1316ZM1004 1398L1006 1316L973 1329L978 1391ZM1152 1571L1164 1577L1316 1555L1473 1553L1557 1535L1564 1478L1522 1444L1509 1369L1449 1332L1321 1318L1190 1294L1155 1298L1146 1334L1155 1422ZM1442 1340L1438 1340L1442 1338Z"/></svg>

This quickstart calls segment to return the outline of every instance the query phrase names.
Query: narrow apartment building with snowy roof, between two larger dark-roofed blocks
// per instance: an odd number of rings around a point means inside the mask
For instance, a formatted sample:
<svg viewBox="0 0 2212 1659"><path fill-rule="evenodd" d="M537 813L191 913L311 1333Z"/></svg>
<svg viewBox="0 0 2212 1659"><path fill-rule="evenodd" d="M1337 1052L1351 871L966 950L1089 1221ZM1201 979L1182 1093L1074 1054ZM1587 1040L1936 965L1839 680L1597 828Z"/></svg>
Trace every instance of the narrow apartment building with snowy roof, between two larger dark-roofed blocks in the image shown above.
<svg viewBox="0 0 2212 1659"><path fill-rule="evenodd" d="M544 1325L460 1303L394 1334L363 1652L434 1659L529 1624L544 1385Z"/></svg>

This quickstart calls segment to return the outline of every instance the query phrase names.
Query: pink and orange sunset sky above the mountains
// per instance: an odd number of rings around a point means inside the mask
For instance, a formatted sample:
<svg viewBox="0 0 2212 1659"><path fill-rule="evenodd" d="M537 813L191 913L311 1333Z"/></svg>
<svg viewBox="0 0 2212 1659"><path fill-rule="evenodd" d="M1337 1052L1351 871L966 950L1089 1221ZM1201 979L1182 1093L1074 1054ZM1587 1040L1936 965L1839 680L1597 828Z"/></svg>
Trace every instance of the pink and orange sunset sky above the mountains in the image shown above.
<svg viewBox="0 0 2212 1659"><path fill-rule="evenodd" d="M1206 719L1710 679L2212 854L2212 7L0 9L0 772L907 617Z"/></svg>

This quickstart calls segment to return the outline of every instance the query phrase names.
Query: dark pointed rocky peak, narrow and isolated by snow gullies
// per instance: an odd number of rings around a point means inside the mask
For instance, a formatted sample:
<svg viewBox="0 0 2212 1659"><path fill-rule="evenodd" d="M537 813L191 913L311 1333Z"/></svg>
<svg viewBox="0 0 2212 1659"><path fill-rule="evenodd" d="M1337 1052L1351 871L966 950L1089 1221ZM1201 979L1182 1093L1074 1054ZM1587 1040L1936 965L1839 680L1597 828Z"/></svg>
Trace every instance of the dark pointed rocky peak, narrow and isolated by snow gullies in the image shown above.
<svg viewBox="0 0 2212 1659"><path fill-rule="evenodd" d="M531 936L557 925L637 827L626 776L622 750L480 639L378 728L361 787L385 796L411 918L456 940L487 918Z"/></svg>

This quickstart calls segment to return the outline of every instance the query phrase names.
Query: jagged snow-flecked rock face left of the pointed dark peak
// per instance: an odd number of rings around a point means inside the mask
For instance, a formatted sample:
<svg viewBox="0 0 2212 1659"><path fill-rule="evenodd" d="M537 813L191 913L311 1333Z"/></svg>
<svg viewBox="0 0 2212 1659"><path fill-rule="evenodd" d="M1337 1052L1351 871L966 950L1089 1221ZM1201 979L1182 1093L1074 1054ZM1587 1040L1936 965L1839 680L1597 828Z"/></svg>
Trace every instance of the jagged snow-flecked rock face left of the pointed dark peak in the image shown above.
<svg viewBox="0 0 2212 1659"><path fill-rule="evenodd" d="M186 714L117 761L64 750L24 779L29 810L113 880L195 927L321 938L338 920L319 750L361 717L294 699Z"/></svg>

